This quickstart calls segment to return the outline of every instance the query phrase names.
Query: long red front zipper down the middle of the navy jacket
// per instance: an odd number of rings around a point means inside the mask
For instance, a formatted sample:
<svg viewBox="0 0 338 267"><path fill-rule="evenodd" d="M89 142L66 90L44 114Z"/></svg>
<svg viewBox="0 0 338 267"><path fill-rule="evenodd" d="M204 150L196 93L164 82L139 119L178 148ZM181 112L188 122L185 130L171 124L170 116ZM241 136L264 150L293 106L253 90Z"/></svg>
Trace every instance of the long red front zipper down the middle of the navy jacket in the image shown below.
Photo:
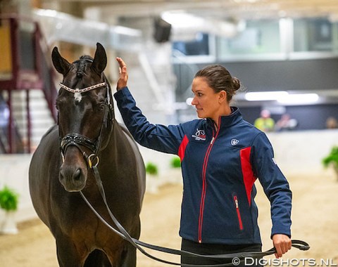
<svg viewBox="0 0 338 267"><path fill-rule="evenodd" d="M201 193L201 204L199 206L199 243L202 242L202 225L203 225L203 214L204 214L204 201L206 200L206 167L208 165L208 159L211 152L211 148L213 148L213 143L215 143L215 139L218 136L218 132L220 131L220 118L218 119L218 129L206 150L206 155L204 156L203 169L202 169L202 193Z"/></svg>

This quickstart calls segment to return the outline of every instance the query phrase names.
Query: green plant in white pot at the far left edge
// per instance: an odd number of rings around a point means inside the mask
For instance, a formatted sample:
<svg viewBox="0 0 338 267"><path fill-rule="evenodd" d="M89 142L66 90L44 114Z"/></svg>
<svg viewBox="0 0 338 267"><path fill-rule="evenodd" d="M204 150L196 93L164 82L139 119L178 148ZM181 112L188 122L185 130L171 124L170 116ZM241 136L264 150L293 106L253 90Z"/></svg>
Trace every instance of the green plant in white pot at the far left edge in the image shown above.
<svg viewBox="0 0 338 267"><path fill-rule="evenodd" d="M4 209L4 221L0 223L0 232L4 234L18 233L15 221L15 211L18 210L19 195L13 189L4 186L0 190L0 208Z"/></svg>

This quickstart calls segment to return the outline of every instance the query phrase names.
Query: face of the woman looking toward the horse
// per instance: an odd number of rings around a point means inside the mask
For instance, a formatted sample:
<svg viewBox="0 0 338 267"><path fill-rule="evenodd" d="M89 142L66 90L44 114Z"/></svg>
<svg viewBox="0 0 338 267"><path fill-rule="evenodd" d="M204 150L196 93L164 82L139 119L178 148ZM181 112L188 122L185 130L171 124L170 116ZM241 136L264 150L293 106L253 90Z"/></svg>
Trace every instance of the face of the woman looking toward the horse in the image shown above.
<svg viewBox="0 0 338 267"><path fill-rule="evenodd" d="M203 77L194 78L192 92L192 105L195 106L199 118L211 118L217 122L220 115L220 93L215 93Z"/></svg>

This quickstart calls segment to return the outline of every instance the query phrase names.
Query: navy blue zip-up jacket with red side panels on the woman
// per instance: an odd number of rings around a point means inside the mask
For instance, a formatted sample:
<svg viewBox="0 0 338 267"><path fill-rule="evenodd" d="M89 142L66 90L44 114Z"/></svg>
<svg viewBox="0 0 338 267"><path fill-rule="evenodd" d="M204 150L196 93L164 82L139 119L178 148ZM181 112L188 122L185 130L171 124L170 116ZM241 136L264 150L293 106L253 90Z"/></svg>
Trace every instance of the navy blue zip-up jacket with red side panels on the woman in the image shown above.
<svg viewBox="0 0 338 267"><path fill-rule="evenodd" d="M137 143L180 156L181 237L204 243L261 244L256 178L271 203L271 236L291 237L292 192L287 179L275 164L265 133L244 121L237 108L219 118L217 131L211 119L163 126L146 120L127 87L114 96Z"/></svg>

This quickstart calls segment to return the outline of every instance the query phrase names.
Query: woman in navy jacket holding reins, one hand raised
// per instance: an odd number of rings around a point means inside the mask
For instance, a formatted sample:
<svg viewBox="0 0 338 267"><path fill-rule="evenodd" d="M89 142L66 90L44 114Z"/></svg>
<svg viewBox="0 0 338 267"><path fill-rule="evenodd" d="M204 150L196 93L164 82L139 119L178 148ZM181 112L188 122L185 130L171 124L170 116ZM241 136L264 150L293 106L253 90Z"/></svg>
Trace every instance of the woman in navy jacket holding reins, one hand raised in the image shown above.
<svg viewBox="0 0 338 267"><path fill-rule="evenodd" d="M127 66L121 58L114 94L135 140L147 148L180 156L183 199L182 249L197 254L261 251L256 178L271 203L271 238L280 257L291 249L292 192L273 158L265 133L245 122L230 106L240 82L225 67L211 65L192 82L199 118L176 126L150 124L127 89ZM182 256L182 263L225 263L220 259ZM243 264L243 263L242 263Z"/></svg>

